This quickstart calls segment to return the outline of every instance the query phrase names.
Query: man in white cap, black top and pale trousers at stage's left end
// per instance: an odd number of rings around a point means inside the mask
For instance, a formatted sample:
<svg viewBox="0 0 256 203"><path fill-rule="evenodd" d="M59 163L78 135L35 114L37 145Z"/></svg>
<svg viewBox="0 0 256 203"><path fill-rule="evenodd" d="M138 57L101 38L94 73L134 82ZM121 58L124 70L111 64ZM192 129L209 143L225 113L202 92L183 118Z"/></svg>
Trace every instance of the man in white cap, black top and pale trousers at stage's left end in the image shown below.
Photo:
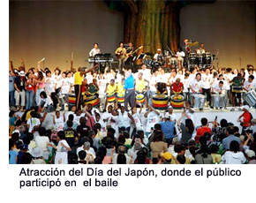
<svg viewBox="0 0 256 203"><path fill-rule="evenodd" d="M25 72L20 71L19 76L14 79L14 97L16 101L17 110L20 109L21 111L25 110L25 98L26 98L26 91L25 91L25 83L26 83L26 77ZM21 103L19 106L19 98L21 97Z"/></svg>

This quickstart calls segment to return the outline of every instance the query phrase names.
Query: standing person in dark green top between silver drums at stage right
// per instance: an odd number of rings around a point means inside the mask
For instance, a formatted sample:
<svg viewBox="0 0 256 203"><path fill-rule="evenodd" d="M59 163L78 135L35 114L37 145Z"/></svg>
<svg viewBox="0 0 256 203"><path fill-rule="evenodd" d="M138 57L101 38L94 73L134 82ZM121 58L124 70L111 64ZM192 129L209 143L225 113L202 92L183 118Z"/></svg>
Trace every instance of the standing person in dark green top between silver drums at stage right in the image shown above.
<svg viewBox="0 0 256 203"><path fill-rule="evenodd" d="M236 101L238 99L238 106L241 106L241 93L244 86L244 79L240 72L237 73L237 77L231 80L231 94L232 94L232 109L231 111L235 110Z"/></svg>

